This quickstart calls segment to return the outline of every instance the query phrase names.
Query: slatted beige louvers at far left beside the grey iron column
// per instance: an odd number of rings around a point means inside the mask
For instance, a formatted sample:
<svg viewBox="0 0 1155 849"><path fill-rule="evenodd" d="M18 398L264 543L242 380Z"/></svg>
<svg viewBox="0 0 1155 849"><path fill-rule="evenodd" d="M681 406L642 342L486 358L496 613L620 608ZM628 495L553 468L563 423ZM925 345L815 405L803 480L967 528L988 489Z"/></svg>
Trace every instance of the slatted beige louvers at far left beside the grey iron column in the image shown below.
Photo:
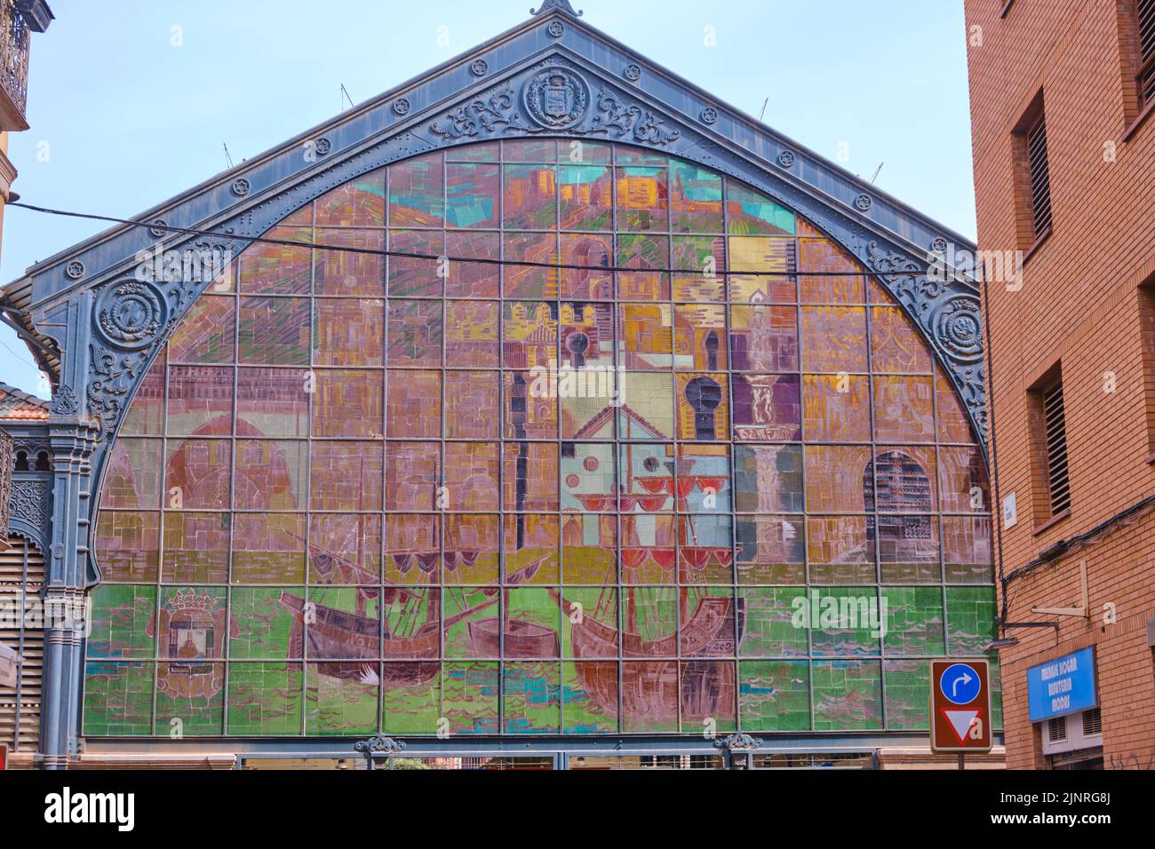
<svg viewBox="0 0 1155 849"><path fill-rule="evenodd" d="M0 552L0 604L7 610L25 610L38 601L44 586L44 556L17 536L8 537L8 544L10 548ZM18 619L0 619L0 642L24 658L16 686L0 685L0 743L12 753L35 752L40 737L44 632L24 627L27 623Z"/></svg>

